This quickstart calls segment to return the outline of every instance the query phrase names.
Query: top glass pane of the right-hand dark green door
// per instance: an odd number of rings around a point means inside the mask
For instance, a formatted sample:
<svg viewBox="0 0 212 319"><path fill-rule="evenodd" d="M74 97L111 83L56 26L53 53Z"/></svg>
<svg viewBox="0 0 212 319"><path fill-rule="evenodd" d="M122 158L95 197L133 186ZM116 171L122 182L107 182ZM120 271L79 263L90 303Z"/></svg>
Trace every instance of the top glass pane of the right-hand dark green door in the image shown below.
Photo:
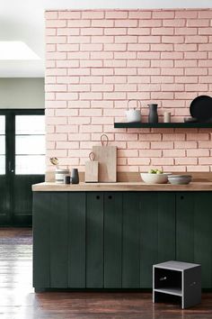
<svg viewBox="0 0 212 319"><path fill-rule="evenodd" d="M16 115L15 134L38 135L45 134L44 115Z"/></svg>

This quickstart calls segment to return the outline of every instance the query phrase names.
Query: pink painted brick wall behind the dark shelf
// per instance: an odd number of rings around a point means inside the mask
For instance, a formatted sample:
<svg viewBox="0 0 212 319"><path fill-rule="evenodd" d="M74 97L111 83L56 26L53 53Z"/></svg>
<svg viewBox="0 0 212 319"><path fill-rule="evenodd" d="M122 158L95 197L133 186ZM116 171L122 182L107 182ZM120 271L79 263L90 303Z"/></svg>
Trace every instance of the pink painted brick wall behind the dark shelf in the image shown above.
<svg viewBox="0 0 212 319"><path fill-rule="evenodd" d="M47 157L84 171L107 133L119 171L212 170L211 130L118 130L128 99L189 116L190 101L212 90L212 9L48 11ZM49 166L48 169L52 169Z"/></svg>

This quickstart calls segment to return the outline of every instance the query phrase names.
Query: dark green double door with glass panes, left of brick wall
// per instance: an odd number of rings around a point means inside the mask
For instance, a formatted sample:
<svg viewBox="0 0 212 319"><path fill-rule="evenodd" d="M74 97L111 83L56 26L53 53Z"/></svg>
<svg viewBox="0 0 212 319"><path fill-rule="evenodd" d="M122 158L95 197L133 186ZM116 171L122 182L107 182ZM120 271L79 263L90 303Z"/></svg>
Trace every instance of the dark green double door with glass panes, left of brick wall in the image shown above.
<svg viewBox="0 0 212 319"><path fill-rule="evenodd" d="M44 111L1 110L0 225L31 225L31 185L44 173Z"/></svg>

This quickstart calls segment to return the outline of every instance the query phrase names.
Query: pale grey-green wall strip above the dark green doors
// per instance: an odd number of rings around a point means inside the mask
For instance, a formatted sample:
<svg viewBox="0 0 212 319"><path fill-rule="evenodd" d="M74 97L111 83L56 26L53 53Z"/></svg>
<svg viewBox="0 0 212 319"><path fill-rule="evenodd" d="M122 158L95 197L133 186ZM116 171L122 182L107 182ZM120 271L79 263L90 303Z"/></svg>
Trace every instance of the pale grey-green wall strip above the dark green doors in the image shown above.
<svg viewBox="0 0 212 319"><path fill-rule="evenodd" d="M44 108L44 78L0 78L0 108Z"/></svg>

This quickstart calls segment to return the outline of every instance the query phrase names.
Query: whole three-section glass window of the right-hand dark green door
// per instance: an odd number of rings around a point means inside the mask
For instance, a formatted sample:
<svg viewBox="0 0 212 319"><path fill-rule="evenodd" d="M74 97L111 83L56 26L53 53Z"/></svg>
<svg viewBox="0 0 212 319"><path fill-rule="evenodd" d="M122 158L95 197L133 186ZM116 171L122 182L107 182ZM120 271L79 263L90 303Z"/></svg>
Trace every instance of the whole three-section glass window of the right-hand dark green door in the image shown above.
<svg viewBox="0 0 212 319"><path fill-rule="evenodd" d="M15 116L15 174L45 174L45 116Z"/></svg>

